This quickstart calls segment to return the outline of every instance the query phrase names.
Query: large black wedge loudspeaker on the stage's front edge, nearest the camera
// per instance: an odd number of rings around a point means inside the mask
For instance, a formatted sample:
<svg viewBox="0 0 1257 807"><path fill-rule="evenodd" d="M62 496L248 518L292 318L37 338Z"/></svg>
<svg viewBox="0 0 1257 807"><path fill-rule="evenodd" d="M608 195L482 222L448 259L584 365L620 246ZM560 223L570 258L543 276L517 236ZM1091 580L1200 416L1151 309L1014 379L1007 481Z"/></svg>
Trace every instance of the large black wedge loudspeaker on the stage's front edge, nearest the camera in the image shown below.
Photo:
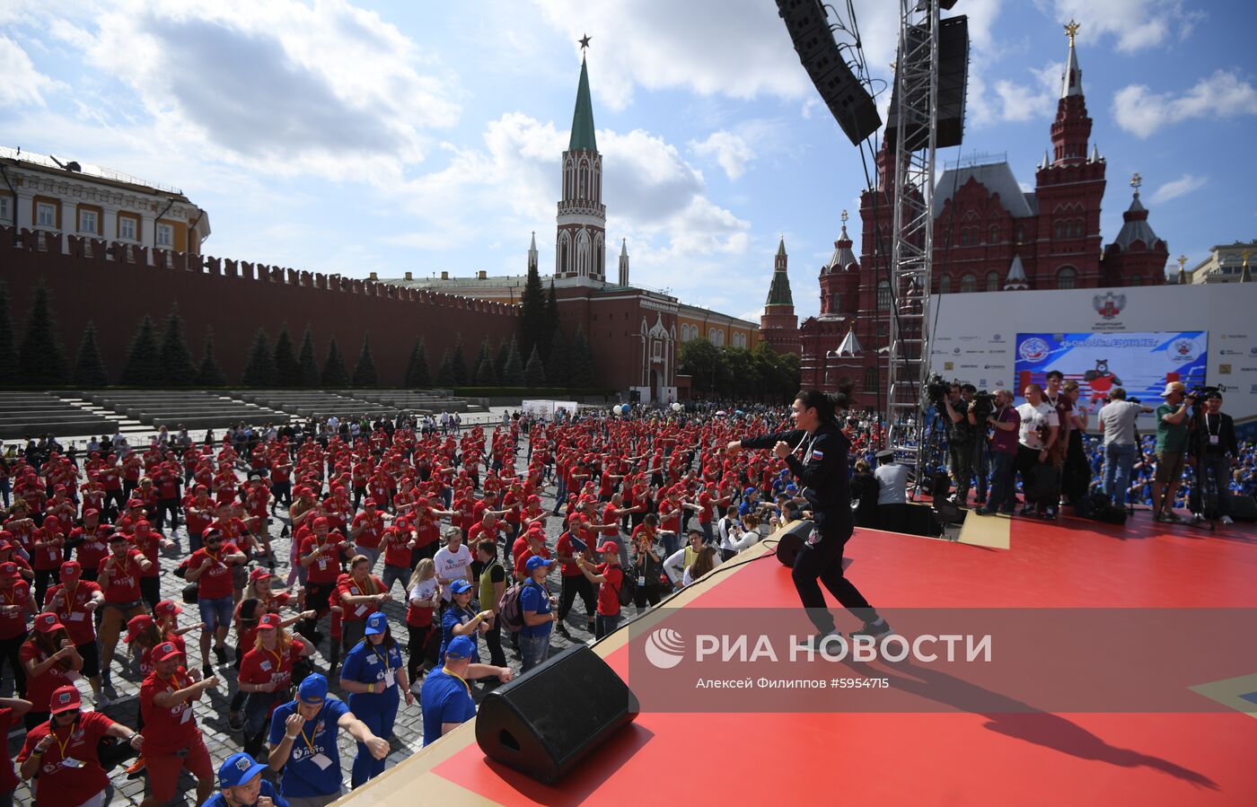
<svg viewBox="0 0 1257 807"><path fill-rule="evenodd" d="M582 644L486 694L475 739L490 759L553 784L640 710L628 685Z"/></svg>

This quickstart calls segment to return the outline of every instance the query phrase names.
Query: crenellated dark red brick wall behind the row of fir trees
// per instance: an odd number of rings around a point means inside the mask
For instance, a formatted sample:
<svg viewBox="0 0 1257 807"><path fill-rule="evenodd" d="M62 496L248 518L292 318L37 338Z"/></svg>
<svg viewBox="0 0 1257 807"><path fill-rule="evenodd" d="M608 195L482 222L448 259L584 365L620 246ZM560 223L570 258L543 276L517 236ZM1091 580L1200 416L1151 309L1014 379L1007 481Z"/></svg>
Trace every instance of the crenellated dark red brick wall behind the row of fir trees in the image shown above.
<svg viewBox="0 0 1257 807"><path fill-rule="evenodd" d="M519 323L518 307L505 303L186 253L157 250L151 258L148 250L94 239L70 238L64 251L55 236L45 239L47 251L34 249L36 238L29 233L20 240L21 246L15 245L14 230L0 228L0 277L9 284L19 343L31 293L43 282L53 294L53 313L72 365L83 324L92 319L114 381L143 316L153 318L160 339L176 302L194 358L200 362L205 329L212 327L219 365L233 385L240 381L259 327L266 329L274 344L287 322L294 349L299 351L309 323L321 368L334 336L351 375L362 349L362 334L370 332L381 386L401 386L419 334L424 336L435 380L441 354L454 347L459 332L470 365L485 336L497 344L509 338ZM150 265L162 260L170 268Z"/></svg>

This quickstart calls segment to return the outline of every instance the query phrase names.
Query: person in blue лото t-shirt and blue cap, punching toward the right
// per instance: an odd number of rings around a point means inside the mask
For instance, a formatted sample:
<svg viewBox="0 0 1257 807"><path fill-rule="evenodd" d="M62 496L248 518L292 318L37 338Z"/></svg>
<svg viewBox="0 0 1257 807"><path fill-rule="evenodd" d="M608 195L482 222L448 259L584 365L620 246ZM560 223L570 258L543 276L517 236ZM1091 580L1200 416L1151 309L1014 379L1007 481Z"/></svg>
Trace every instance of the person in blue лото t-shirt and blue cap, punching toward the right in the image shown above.
<svg viewBox="0 0 1257 807"><path fill-rule="evenodd" d="M292 807L326 807L341 797L341 752L337 732L363 743L376 759L388 755L388 740L372 734L344 701L327 694L327 679L308 675L295 700L277 706L270 718L272 771L283 771L279 792Z"/></svg>

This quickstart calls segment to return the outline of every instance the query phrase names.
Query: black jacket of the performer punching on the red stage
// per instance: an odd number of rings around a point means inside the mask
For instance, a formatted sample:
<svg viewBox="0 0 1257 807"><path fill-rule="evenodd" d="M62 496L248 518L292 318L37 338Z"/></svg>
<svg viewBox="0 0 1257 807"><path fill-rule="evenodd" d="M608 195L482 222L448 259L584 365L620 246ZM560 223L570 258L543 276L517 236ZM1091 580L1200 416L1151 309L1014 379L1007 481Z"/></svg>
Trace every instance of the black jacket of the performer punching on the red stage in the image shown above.
<svg viewBox="0 0 1257 807"><path fill-rule="evenodd" d="M744 449L772 449L778 440L793 446L786 465L803 486L803 498L812 505L812 520L825 532L851 532L851 488L847 481L847 451L851 442L837 424L828 422L808 435L802 429L776 431L748 437Z"/></svg>

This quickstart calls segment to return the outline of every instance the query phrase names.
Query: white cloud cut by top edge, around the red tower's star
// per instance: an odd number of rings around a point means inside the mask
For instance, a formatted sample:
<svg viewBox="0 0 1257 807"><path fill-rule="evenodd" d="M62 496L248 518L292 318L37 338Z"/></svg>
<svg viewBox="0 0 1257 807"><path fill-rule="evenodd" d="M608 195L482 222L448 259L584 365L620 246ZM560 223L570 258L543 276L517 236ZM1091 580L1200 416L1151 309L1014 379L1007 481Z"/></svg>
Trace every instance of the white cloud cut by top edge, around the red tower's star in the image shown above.
<svg viewBox="0 0 1257 807"><path fill-rule="evenodd" d="M1046 0L1038 0L1041 8ZM1079 38L1096 41L1111 35L1117 50L1134 53L1163 44L1172 34L1185 39L1204 18L1184 0L1053 0L1046 9L1060 23L1077 20Z"/></svg>

